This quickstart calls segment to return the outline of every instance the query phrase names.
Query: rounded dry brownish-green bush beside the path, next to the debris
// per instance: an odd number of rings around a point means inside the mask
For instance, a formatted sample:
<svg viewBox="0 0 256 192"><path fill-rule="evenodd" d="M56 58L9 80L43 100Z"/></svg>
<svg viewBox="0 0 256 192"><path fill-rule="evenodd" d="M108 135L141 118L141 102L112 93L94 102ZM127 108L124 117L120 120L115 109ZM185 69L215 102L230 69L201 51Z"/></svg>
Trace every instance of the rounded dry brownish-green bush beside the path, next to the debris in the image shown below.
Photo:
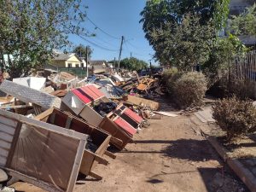
<svg viewBox="0 0 256 192"><path fill-rule="evenodd" d="M179 108L201 105L207 91L207 79L204 74L190 72L173 75L168 81L168 90Z"/></svg>

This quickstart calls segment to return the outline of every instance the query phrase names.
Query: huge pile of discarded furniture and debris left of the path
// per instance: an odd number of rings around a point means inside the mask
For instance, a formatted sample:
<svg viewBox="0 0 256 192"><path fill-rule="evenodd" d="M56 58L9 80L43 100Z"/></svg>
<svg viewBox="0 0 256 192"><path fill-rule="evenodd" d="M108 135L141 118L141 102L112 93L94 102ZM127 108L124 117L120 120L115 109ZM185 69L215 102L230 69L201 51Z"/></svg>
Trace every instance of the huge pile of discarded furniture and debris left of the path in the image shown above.
<svg viewBox="0 0 256 192"><path fill-rule="evenodd" d="M122 150L148 126L147 119L173 116L157 112L158 102L139 97L160 96L157 79L130 76L125 81L118 74L77 79L57 73L4 80L0 168L49 191L73 191L79 172L102 179L94 168L108 166L104 154L116 157L109 145Z"/></svg>

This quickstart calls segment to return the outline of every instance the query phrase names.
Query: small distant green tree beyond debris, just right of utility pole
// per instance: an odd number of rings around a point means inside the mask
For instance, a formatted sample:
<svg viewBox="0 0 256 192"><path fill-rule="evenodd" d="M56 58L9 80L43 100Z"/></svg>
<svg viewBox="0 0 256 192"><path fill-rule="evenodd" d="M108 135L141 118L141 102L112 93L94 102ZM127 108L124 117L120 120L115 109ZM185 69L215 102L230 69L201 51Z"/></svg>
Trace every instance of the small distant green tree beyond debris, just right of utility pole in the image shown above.
<svg viewBox="0 0 256 192"><path fill-rule="evenodd" d="M131 71L139 71L141 69L148 67L148 63L143 60L138 60L135 57L131 57L125 58L122 61L120 61L120 67L129 69Z"/></svg>

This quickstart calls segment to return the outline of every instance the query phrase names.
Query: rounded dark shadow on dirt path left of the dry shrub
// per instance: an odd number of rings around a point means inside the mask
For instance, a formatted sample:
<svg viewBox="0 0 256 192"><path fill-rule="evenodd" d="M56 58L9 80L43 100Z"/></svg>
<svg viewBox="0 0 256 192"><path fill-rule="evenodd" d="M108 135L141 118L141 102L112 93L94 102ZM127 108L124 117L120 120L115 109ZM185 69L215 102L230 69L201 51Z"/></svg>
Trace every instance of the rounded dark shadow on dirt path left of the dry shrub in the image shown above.
<svg viewBox="0 0 256 192"><path fill-rule="evenodd" d="M172 141L161 153L168 157L182 160L216 160L216 158L212 157L212 146L207 140L178 139L177 141Z"/></svg>

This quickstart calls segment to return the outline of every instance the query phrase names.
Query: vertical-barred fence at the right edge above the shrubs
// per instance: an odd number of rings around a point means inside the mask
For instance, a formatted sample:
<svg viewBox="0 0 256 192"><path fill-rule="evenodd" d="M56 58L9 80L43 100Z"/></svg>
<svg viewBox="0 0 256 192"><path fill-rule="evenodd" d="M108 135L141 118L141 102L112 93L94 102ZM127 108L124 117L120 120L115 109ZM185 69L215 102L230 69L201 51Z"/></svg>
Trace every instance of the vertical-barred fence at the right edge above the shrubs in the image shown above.
<svg viewBox="0 0 256 192"><path fill-rule="evenodd" d="M236 58L235 71L238 79L256 82L256 50L248 52L243 58Z"/></svg>

